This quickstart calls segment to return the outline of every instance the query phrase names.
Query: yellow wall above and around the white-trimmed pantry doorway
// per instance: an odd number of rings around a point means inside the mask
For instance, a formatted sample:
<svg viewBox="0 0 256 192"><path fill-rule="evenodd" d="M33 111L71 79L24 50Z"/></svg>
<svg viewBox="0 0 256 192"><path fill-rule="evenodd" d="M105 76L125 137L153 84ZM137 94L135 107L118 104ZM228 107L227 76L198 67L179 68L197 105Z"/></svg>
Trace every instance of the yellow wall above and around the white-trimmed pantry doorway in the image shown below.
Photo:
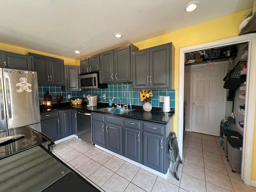
<svg viewBox="0 0 256 192"><path fill-rule="evenodd" d="M194 25L182 30L177 30L162 36L157 36L148 40L134 43L140 50L172 42L175 47L175 64L174 64L174 89L175 91L175 116L174 132L178 133L178 98L179 98L179 49L192 45L212 42L225 38L238 36L238 25L242 16L248 10L231 14L218 19L210 20L198 25ZM254 146L256 146L256 128L254 128ZM253 148L253 161L256 162L256 147ZM252 164L252 180L256 181L256 164Z"/></svg>

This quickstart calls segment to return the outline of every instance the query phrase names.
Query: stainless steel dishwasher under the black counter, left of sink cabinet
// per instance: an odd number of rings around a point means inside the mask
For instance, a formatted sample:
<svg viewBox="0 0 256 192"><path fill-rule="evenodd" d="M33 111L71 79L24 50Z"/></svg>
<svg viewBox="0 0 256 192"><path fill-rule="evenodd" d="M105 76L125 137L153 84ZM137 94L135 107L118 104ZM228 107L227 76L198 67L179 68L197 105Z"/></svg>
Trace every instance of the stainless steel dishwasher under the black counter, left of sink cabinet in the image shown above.
<svg viewBox="0 0 256 192"><path fill-rule="evenodd" d="M77 134L78 138L92 144L92 113L77 111Z"/></svg>

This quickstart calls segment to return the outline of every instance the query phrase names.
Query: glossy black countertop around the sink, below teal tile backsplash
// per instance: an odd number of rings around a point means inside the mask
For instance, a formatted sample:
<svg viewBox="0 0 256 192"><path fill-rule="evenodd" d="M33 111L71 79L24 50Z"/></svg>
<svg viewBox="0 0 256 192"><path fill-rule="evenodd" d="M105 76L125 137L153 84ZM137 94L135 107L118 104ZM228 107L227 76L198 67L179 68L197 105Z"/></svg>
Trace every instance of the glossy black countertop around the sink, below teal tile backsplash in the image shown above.
<svg viewBox="0 0 256 192"><path fill-rule="evenodd" d="M82 105L70 105L70 102L65 102L65 103L60 103L60 105L54 104L52 108L48 108L48 109L42 108L42 106L40 106L40 113L72 108L72 109L84 110L88 112L110 114L110 115L133 118L138 120L146 120L146 121L162 123L162 124L167 124L171 120L172 116L174 115L174 109L172 109L171 114L165 115L162 113L162 108L160 107L153 107L150 112L145 112L142 109L142 106L133 106L133 109L135 110L125 114L113 114L108 112L97 111L97 109L105 108L105 107L108 107L108 103L98 103L98 106L88 107L86 106L86 102L83 102Z"/></svg>

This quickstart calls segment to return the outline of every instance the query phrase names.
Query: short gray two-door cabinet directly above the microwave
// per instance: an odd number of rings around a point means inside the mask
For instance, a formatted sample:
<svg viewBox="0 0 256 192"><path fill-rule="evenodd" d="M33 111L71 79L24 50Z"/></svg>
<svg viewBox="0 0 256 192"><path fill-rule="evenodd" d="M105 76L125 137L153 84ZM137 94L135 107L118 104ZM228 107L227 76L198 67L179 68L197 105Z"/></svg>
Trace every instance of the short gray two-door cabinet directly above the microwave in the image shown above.
<svg viewBox="0 0 256 192"><path fill-rule="evenodd" d="M96 54L80 60L81 73L90 73L100 70L100 55Z"/></svg>

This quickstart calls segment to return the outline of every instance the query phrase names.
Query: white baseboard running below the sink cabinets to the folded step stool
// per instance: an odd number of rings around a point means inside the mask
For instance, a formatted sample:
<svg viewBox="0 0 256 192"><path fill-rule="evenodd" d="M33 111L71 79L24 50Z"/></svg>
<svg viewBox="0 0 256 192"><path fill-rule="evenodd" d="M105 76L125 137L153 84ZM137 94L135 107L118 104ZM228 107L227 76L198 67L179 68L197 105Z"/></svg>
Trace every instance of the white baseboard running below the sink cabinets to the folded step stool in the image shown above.
<svg viewBox="0 0 256 192"><path fill-rule="evenodd" d="M101 146L95 145L95 147L96 147L96 148L99 148L99 149L101 149L102 151L105 151L105 152L107 152L107 153L109 153L109 154L112 154L112 155L114 155L114 156L116 156L116 157L118 157L118 158L120 158L120 159L122 159L122 160L124 160L124 161L127 161L127 162L129 162L129 163L131 163L131 164L134 164L135 166L138 166L138 167L143 168L143 169L145 169L145 170L147 170L147 171L149 171L149 172L152 172L153 174L156 174L156 175L158 175L158 176L160 176L160 177L162 177L162 178L167 179L167 178L168 178L168 175L170 174L170 167L169 167L167 173L166 173L166 174L163 174L163 173L158 172L158 171L156 171L156 170L154 170L154 169L152 169L152 168L149 168L149 167L147 167L147 166L144 166L144 165L142 165L142 164L140 164L140 163L138 163L138 162L136 162L136 161L134 161L134 160L130 160L130 159L128 159L128 158L126 158L126 157L124 157L124 156L122 156L122 155L119 155L119 154L116 154L115 152L112 152L112 151L110 151L110 150L107 150L107 149L105 149L105 148L103 148L103 147L101 147ZM170 166L171 166L171 165L170 165Z"/></svg>

